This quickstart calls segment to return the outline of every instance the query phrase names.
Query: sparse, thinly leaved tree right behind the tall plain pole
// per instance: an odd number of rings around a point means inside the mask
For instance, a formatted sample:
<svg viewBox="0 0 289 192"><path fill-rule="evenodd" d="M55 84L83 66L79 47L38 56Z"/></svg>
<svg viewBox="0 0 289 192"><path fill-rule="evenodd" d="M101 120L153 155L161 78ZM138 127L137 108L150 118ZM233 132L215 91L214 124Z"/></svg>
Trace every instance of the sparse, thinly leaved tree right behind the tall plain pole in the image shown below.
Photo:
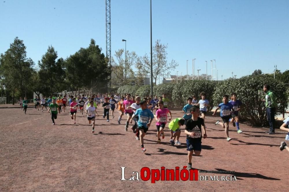
<svg viewBox="0 0 289 192"><path fill-rule="evenodd" d="M155 84L158 76L169 76L171 71L179 65L173 59L170 63L167 62L167 48L168 45L161 44L160 40L157 40L155 46L153 46L153 79L155 80ZM151 59L147 54L138 59L136 68L142 68L145 74L151 74Z"/></svg>

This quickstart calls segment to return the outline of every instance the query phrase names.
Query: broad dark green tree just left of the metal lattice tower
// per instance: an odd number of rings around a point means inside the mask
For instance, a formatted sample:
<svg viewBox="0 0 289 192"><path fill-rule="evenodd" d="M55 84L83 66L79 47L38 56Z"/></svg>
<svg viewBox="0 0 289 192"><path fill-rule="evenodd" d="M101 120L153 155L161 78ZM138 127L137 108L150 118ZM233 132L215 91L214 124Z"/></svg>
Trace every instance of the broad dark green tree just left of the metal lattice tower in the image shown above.
<svg viewBox="0 0 289 192"><path fill-rule="evenodd" d="M80 48L66 59L65 74L72 92L80 88L106 91L110 67L95 40L91 39L88 48Z"/></svg>

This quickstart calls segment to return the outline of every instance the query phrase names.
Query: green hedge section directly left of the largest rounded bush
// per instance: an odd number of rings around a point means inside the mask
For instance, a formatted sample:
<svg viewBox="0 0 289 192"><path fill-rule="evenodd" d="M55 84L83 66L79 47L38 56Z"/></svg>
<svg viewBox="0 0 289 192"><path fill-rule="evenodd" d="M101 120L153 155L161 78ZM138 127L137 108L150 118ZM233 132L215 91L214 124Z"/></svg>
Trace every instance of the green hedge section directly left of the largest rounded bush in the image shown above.
<svg viewBox="0 0 289 192"><path fill-rule="evenodd" d="M218 82L211 80L185 80L180 82L175 85L172 93L175 106L180 108L183 107L187 104L188 97L192 95L196 95L197 99L200 100L200 93L204 91L207 95L206 99L210 101L208 110L212 110L212 103L214 103L212 96L217 84Z"/></svg>

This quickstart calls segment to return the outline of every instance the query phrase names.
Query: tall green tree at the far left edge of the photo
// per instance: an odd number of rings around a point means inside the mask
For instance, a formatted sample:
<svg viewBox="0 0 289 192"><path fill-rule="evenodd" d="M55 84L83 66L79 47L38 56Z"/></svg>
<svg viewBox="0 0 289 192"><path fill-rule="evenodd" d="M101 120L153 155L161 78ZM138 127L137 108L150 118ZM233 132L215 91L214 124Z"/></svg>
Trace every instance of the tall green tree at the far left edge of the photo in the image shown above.
<svg viewBox="0 0 289 192"><path fill-rule="evenodd" d="M18 37L10 44L10 48L5 54L1 54L1 78L5 89L13 92L13 104L17 91L19 93L18 96L24 97L27 82L32 78L33 66L34 62L32 59L26 58L26 46L23 40L18 39Z"/></svg>

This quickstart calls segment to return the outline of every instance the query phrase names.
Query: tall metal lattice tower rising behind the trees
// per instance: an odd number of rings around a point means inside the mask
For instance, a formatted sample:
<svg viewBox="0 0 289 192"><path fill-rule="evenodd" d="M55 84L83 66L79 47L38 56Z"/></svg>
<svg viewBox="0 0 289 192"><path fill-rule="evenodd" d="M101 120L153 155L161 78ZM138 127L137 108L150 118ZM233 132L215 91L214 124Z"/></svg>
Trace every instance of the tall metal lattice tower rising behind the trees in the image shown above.
<svg viewBox="0 0 289 192"><path fill-rule="evenodd" d="M110 0L105 0L105 18L106 18L106 58L109 59L111 69L111 33L110 33ZM111 88L111 73L110 73Z"/></svg>

